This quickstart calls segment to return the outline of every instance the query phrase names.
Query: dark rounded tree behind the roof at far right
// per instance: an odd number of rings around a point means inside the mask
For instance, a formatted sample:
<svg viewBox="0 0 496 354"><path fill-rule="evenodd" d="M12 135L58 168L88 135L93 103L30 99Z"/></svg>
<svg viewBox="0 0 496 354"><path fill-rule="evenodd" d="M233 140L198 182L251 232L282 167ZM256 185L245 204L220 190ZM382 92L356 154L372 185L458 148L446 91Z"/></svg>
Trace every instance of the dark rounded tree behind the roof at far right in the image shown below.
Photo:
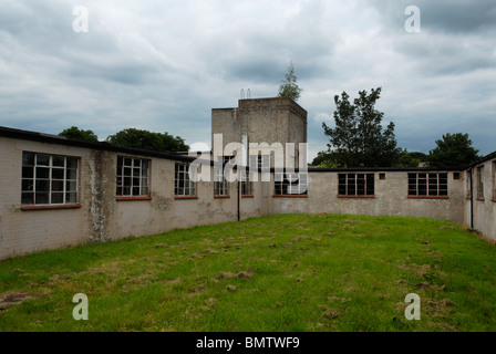
<svg viewBox="0 0 496 354"><path fill-rule="evenodd" d="M435 143L437 146L428 152L430 166L467 166L479 158L468 134L447 133Z"/></svg>

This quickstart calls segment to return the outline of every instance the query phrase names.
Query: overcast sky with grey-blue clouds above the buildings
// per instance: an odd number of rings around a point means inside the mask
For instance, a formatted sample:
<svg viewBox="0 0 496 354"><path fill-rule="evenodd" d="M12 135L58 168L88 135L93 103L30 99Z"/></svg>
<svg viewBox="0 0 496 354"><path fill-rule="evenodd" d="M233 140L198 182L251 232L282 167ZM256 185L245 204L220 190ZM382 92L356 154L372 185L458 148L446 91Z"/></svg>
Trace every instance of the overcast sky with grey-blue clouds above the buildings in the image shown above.
<svg viewBox="0 0 496 354"><path fill-rule="evenodd" d="M73 29L76 6L87 32ZM405 30L409 6L421 32ZM277 96L290 61L310 160L327 148L333 96L379 86L401 147L428 153L468 133L482 154L496 150L494 0L0 0L0 125L209 144L210 110L237 106L241 88Z"/></svg>

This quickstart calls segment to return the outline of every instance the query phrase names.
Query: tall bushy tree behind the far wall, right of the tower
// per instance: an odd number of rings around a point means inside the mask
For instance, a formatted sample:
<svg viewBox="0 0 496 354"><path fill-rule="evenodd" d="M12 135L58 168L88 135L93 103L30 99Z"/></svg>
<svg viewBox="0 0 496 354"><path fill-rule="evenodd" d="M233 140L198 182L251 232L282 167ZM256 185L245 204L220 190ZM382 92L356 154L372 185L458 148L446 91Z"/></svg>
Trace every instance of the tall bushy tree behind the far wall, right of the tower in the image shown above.
<svg viewBox="0 0 496 354"><path fill-rule="evenodd" d="M396 146L394 123L383 129L384 113L374 107L380 95L381 87L372 88L370 94L360 91L353 104L345 92L341 98L334 96L335 127L331 128L326 123L322 127L330 138L328 152L340 166L390 167L396 164L401 148Z"/></svg>

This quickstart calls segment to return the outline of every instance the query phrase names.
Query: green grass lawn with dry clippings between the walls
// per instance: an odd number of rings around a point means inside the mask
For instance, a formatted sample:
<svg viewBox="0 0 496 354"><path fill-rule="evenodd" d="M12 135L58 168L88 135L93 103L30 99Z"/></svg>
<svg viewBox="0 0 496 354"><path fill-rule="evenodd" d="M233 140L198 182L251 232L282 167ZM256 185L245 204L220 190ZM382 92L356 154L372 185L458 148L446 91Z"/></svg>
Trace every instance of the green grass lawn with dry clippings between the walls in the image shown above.
<svg viewBox="0 0 496 354"><path fill-rule="evenodd" d="M0 262L0 332L496 331L495 256L431 219L195 227ZM72 316L76 293L89 298L87 321ZM404 316L409 293L421 298L420 321Z"/></svg>

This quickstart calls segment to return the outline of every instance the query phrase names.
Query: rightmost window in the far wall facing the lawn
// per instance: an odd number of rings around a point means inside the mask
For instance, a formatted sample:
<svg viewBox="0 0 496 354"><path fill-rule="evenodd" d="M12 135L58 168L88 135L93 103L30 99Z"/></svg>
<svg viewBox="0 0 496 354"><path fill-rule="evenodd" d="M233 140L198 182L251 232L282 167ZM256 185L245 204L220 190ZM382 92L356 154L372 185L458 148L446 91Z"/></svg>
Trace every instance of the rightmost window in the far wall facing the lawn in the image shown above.
<svg viewBox="0 0 496 354"><path fill-rule="evenodd" d="M409 174L410 197L447 197L447 174Z"/></svg>

